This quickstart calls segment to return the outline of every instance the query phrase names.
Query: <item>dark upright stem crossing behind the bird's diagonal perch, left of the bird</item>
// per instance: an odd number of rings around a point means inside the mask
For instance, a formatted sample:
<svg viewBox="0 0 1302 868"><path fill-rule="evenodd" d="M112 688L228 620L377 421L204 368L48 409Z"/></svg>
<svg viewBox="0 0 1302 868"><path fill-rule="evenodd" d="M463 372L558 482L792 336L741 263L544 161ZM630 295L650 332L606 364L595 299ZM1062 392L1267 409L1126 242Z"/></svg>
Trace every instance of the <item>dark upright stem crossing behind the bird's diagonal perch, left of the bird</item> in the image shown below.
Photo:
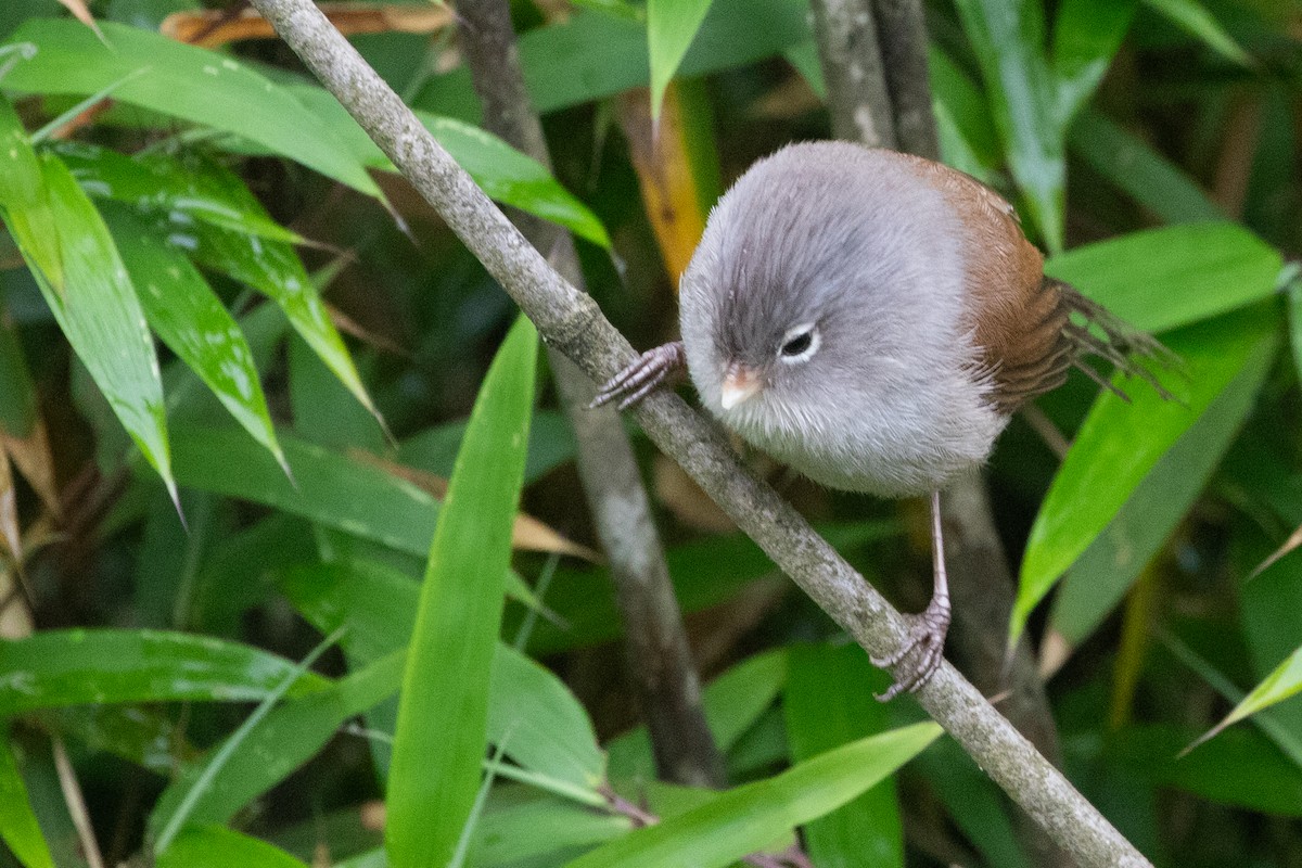
<svg viewBox="0 0 1302 868"><path fill-rule="evenodd" d="M516 31L505 0L461 0L461 47L484 125L543 165L551 165L543 126L529 102ZM559 226L512 215L536 250L583 289L574 239ZM700 682L682 613L669 582L651 504L613 409L589 411L596 387L549 350L556 387L578 442L578 472L596 534L611 563L616 604L624 622L625 671L651 733L659 777L690 786L723 786L724 763L706 725Z"/></svg>

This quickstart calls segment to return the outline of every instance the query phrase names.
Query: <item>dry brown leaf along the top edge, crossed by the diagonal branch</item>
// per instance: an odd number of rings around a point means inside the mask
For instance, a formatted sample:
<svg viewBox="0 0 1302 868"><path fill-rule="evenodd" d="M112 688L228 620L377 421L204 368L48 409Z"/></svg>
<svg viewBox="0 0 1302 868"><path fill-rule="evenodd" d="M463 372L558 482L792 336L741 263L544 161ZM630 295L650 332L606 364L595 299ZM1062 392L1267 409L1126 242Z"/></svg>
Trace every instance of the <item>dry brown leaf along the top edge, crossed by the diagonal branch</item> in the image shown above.
<svg viewBox="0 0 1302 868"><path fill-rule="evenodd" d="M453 23L447 5L410 7L375 5L368 3L323 3L320 10L345 36L363 33L434 33ZM279 39L256 9L243 8L237 14L221 9L173 12L159 31L177 42L214 48L241 39Z"/></svg>

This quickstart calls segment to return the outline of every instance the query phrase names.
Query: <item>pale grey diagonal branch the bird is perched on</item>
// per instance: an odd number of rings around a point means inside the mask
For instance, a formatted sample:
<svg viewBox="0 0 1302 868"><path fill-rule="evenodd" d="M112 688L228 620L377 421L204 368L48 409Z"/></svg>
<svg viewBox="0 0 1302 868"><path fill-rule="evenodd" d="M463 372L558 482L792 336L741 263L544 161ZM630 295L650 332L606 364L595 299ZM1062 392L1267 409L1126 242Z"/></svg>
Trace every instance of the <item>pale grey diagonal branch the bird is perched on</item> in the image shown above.
<svg viewBox="0 0 1302 868"><path fill-rule="evenodd" d="M534 320L548 345L594 380L612 376L635 358L596 303L547 264L311 0L253 4ZM885 656L904 647L907 634L900 613L741 465L717 428L671 393L650 396L637 419L865 649ZM1081 864L1150 865L952 665L943 664L917 699Z"/></svg>

